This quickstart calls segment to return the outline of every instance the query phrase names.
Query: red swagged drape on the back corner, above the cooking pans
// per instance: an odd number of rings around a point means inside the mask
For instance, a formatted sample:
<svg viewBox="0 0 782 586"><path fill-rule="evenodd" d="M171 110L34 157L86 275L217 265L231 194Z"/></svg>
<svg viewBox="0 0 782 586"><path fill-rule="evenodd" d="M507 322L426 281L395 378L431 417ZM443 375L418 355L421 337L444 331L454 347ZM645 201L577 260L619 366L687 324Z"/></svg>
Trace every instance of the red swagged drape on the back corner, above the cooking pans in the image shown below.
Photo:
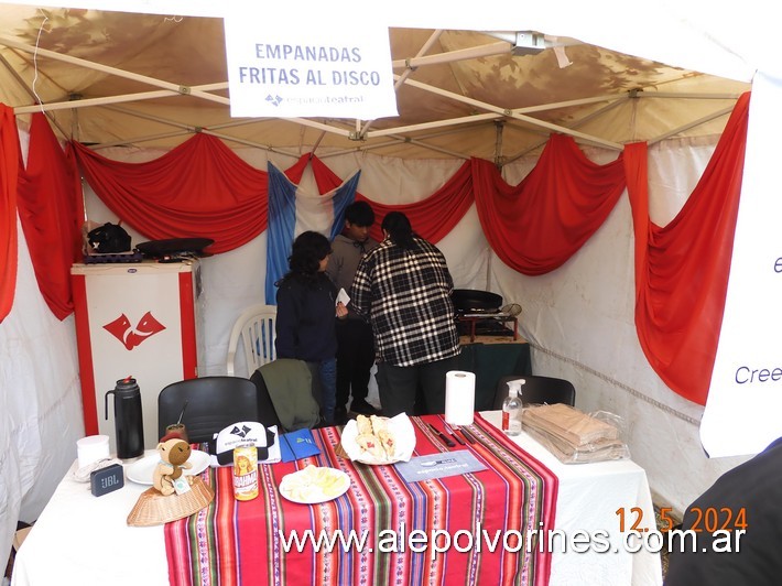
<svg viewBox="0 0 782 586"><path fill-rule="evenodd" d="M571 137L554 134L515 187L488 161L473 159L478 217L492 250L536 275L561 267L602 225L624 191L621 155L589 161Z"/></svg>

